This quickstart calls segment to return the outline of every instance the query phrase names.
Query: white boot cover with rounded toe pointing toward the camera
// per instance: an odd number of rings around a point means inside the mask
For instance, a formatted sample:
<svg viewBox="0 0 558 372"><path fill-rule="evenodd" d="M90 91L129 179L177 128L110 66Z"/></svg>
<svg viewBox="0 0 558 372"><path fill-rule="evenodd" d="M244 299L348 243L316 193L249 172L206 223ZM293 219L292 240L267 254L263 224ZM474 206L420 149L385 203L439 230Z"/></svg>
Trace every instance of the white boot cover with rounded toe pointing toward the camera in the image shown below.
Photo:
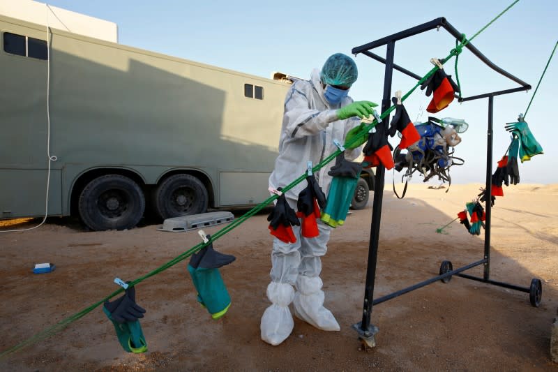
<svg viewBox="0 0 558 372"><path fill-rule="evenodd" d="M262 340L279 345L291 334L294 327L289 304L294 297L294 288L288 283L271 282L267 286L267 298L271 306L262 315L259 329Z"/></svg>

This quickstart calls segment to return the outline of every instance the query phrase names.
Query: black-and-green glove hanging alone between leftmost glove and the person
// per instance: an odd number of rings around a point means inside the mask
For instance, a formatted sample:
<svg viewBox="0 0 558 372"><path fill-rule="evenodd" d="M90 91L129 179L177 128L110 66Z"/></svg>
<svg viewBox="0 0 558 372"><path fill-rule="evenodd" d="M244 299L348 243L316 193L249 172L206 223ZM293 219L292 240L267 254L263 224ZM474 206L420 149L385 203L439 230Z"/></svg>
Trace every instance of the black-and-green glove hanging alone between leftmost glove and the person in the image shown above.
<svg viewBox="0 0 558 372"><path fill-rule="evenodd" d="M211 239L211 235L206 237ZM197 302L204 306L215 320L223 317L231 306L231 297L219 267L229 265L234 260L234 255L225 255L213 249L211 242L193 254L188 263L188 273L197 290Z"/></svg>

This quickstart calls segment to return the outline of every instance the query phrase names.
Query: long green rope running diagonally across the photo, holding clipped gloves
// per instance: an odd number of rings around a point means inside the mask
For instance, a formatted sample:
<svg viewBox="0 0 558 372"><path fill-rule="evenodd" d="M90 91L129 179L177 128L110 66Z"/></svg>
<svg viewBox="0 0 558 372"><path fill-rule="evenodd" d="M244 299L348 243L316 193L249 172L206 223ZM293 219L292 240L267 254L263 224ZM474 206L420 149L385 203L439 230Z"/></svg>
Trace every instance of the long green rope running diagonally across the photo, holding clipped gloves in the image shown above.
<svg viewBox="0 0 558 372"><path fill-rule="evenodd" d="M442 63L445 63L446 61L451 59L451 57L460 54L462 52L462 48L465 45L467 45L467 43L469 43L470 40L475 38L478 34L481 34L481 32L484 31L488 26L490 26L490 24L492 24L492 22L497 20L498 17L500 17L502 14L504 14L509 8L511 8L518 1L519 0L515 0L511 4L511 6L508 6L508 8L506 8L502 13L500 13L497 17L495 17L495 19L490 21L490 23L487 24L485 27L483 27L483 29L481 29L481 31L478 31L471 39L467 40L464 37L462 42L459 45L457 45L453 50L451 50L448 57L446 57L444 59L444 62L442 62ZM434 66L434 68L432 68L430 71L428 71L428 73L426 73L426 75L424 75L421 80L418 80L418 82L415 84L415 86L412 87L412 89L409 90L407 92L407 94L405 94L405 96L402 96L401 101L405 101L414 92L414 90L417 87L419 87L423 82L425 82L428 79L428 77L432 76L432 74L435 73L437 69L438 69L438 67ZM385 119L386 117L389 117L389 114L393 110L395 110L395 105L389 107L386 111L382 112L382 114L380 114L380 119ZM343 146L346 147L346 148L349 148L352 145L361 141L364 137L368 137L368 132L370 131L370 129L375 127L376 124L377 124L377 121L375 119L374 121L372 121L372 123L363 126L362 130L357 135L355 135L351 140L345 142L345 144ZM323 161L321 161L317 165L315 165L315 167L312 168L312 171L316 172L317 170L322 169L324 167L324 165L328 164L335 157L337 157L340 153L341 153L340 149L338 149L336 151L333 151L332 154L330 154L329 156L324 158ZM302 174L300 177L298 177L297 179L292 181L290 184L283 187L282 192L289 191L291 188L293 188L297 184L300 184L305 179L306 179L306 173ZM219 230L215 234L211 235L211 239L209 239L209 241L207 243L199 243L196 246L193 246L188 251L186 251L184 253L181 253L181 255L179 255L176 258L167 262L165 265L162 265L162 266L158 267L157 269L154 269L153 271L149 272L148 274L146 274L144 276L141 276L140 278L135 279L134 281L130 281L129 285L131 285L131 286L137 285L138 283L144 281L146 278L150 278L151 276L154 276L154 275L160 273L161 271L165 271L169 267L172 267L172 266L176 265L177 263L181 262L182 260L185 260L186 258L190 257L190 255L193 255L195 252L197 252L200 249L204 248L205 246L208 246L209 244L211 244L213 241L216 241L220 237L223 237L223 235L227 234L227 232L233 230L234 228L239 226L241 223L246 221L248 218L257 214L258 211L261 211L262 209L267 207L271 202L273 202L273 200L276 200L277 198L278 198L278 195L272 195L271 197L267 198L264 202L258 204L256 207L253 207L252 209L250 209L250 211L246 212L246 214L243 214L243 216L237 218L232 223L229 223L229 225L225 226L225 228L222 228L221 230ZM119 290L116 290L116 291L112 292L110 295L108 295L104 299L100 300L99 302L96 302L95 304L93 304L93 305L91 305L87 308L84 308L79 313L75 313L74 315L71 315L70 317L62 320L61 322L58 322L55 325L52 325L51 327L43 329L43 331L39 332L38 334L35 334L34 336L31 336L31 338L28 338L27 340L23 341L22 343L18 343L17 345L13 346L12 348L9 348L8 350L5 350L5 351L1 352L0 353L0 360L5 359L8 355L11 355L14 352L17 352L18 350L21 350L22 348L25 348L29 345L32 345L33 343L44 340L45 338L48 338L48 337L50 337L50 336L52 336L52 335L54 335L58 332L61 332L64 328L68 327L68 325L70 325L70 323L75 322L76 320L82 318L84 315L86 315L87 313L90 313L91 311L93 311L95 308L97 308L98 306L103 304L108 299L111 299L112 297L114 297L116 295L119 295L119 293L121 293L121 292L123 292L123 288L119 288Z"/></svg>

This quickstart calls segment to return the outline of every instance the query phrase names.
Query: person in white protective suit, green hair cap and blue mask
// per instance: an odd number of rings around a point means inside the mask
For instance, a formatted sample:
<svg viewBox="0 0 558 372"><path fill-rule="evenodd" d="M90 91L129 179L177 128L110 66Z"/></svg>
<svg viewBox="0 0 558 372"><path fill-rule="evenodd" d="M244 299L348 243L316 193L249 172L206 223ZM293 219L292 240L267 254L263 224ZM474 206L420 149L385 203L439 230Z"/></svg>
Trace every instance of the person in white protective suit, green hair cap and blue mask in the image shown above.
<svg viewBox="0 0 558 372"><path fill-rule="evenodd" d="M308 161L316 165L337 149L333 140L345 142L347 132L359 126L359 117L372 114L376 104L353 102L349 88L356 81L356 64L351 57L337 53L329 57L322 70L313 70L310 80L292 84L285 97L285 112L279 142L279 156L269 177L269 186L277 189L290 184L307 170ZM345 150L345 158L353 160L361 148ZM322 191L327 195L332 177L328 174L334 162L315 172ZM296 210L299 193L306 187L301 182L285 193L289 206ZM306 238L300 226L292 226L296 242L273 239L271 251L271 283L266 308L260 324L262 340L271 345L285 341L294 327L289 304L294 314L310 325L325 331L339 331L337 320L324 307L322 255L326 254L331 228L318 221L319 236ZM293 285L296 288L294 291Z"/></svg>

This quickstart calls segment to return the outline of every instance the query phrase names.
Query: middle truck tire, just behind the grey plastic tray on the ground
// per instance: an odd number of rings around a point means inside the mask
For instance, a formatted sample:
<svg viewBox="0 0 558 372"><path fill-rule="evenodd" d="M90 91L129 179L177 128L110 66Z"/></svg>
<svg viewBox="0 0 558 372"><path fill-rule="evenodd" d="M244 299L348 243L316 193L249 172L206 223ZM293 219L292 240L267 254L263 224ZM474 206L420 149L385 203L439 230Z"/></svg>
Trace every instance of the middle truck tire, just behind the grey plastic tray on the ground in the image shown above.
<svg viewBox="0 0 558 372"><path fill-rule="evenodd" d="M155 210L160 218L200 214L207 211L207 190L190 174L174 174L163 181L155 191Z"/></svg>

